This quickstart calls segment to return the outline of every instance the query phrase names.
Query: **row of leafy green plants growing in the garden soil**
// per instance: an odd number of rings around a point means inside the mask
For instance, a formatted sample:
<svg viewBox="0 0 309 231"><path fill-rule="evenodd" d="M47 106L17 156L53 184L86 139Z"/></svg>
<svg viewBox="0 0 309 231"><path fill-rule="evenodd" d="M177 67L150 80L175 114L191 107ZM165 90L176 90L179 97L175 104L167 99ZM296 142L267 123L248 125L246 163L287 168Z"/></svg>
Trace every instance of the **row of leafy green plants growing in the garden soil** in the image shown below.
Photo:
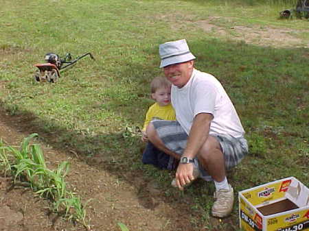
<svg viewBox="0 0 309 231"><path fill-rule="evenodd" d="M69 172L69 162L62 162L55 170L48 169L41 147L30 145L35 136L38 134L24 138L20 149L0 142L0 173L4 171L5 175L12 175L14 184L16 180L26 182L34 193L51 199L55 212L88 228L85 205L82 205L80 197L67 190L65 175Z"/></svg>

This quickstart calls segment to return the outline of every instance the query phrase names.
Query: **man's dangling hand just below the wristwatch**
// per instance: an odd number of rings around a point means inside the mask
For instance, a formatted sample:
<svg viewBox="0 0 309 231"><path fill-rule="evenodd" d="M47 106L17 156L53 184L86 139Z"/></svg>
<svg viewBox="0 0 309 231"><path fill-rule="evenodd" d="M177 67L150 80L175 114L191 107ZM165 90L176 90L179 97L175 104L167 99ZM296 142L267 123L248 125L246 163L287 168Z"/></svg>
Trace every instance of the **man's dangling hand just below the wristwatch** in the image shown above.
<svg viewBox="0 0 309 231"><path fill-rule="evenodd" d="M181 191L185 184L190 184L194 180L193 177L193 164L179 164L176 171L176 185Z"/></svg>

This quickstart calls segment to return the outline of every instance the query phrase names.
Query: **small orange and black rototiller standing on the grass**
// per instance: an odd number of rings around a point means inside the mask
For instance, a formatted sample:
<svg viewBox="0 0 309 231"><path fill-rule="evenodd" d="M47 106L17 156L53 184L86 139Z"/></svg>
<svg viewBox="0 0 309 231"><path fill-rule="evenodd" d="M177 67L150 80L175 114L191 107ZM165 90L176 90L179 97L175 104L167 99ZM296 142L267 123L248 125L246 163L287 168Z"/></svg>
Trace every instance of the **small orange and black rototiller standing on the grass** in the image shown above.
<svg viewBox="0 0 309 231"><path fill-rule="evenodd" d="M57 82L60 77L60 71L75 64L78 60L84 58L85 56L90 56L90 58L94 60L91 53L84 53L82 56L79 56L74 60L72 60L70 53L67 53L64 59L61 59L56 53L47 53L45 55L45 63L34 65L38 68L36 73L34 73L34 79L38 82Z"/></svg>

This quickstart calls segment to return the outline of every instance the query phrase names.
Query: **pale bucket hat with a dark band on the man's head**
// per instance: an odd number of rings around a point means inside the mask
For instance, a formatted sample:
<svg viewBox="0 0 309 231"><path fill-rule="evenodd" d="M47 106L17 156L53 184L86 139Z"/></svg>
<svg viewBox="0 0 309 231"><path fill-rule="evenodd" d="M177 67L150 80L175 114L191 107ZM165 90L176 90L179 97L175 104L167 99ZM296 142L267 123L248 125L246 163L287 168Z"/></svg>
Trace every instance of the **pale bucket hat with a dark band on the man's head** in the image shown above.
<svg viewBox="0 0 309 231"><path fill-rule="evenodd" d="M159 53L161 57L160 68L195 59L195 56L189 50L185 39L165 42L159 45Z"/></svg>

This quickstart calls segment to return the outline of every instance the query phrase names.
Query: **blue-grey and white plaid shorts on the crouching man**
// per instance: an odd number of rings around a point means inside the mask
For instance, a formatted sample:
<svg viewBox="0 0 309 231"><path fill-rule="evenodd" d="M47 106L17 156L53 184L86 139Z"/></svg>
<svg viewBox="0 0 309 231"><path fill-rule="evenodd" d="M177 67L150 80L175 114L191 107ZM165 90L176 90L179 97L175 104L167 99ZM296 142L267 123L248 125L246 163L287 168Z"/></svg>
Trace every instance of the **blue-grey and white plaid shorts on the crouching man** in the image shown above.
<svg viewBox="0 0 309 231"><path fill-rule="evenodd" d="M178 121L152 120L151 123L157 130L157 134L163 141L165 147L181 156L187 146L187 133ZM248 144L244 137L234 138L227 134L211 135L220 143L222 152L225 156L225 168L227 170L235 167L248 154ZM204 180L211 180L207 171L203 169L198 162L198 158L194 159L194 165L200 169Z"/></svg>

